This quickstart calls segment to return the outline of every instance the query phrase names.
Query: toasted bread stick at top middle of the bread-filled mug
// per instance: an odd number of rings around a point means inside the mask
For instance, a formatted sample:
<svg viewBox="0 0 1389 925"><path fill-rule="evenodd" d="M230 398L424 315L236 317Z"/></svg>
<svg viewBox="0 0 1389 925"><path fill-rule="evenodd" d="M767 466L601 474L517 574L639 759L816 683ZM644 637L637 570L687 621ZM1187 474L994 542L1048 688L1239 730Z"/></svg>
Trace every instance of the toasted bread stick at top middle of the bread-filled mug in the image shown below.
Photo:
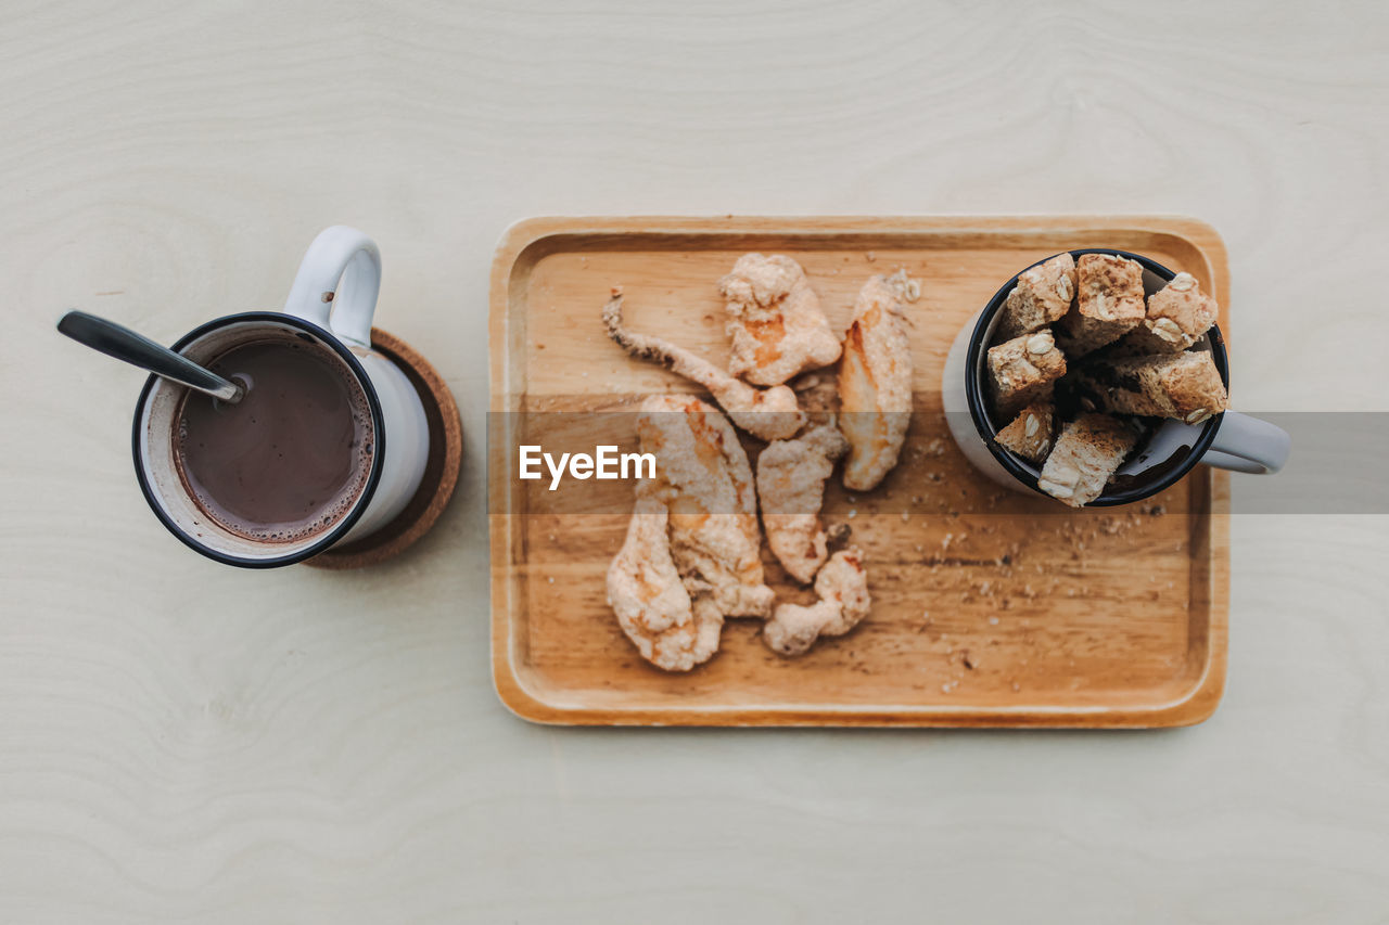
<svg viewBox="0 0 1389 925"><path fill-rule="evenodd" d="M1082 254L1075 264L1075 306L1057 322L1072 360L1118 340L1143 322L1143 268L1114 254Z"/></svg>

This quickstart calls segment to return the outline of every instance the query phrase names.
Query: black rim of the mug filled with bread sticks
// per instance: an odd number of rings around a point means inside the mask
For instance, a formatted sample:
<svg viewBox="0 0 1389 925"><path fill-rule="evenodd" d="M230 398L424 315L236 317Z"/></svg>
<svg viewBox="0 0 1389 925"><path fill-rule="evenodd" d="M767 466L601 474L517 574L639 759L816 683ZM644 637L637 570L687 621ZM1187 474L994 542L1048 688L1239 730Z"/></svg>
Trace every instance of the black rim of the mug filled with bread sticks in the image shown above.
<svg viewBox="0 0 1389 925"><path fill-rule="evenodd" d="M1113 247L1082 247L1070 251L1070 254L1072 257L1081 257L1082 254L1117 254L1120 257L1126 257L1128 260L1140 264L1145 269L1151 271L1156 276L1158 276L1165 282L1170 282L1176 275L1175 272L1172 272L1163 264L1157 262L1156 260L1151 260L1150 257L1145 257L1142 254L1133 254L1126 250L1115 250ZM1051 254L1051 257L1057 256L1058 254ZM974 335L970 338L970 351L967 354L967 361L965 361L965 381L964 381L965 401L970 406L970 417L974 419L974 426L975 431L979 432L979 438L983 440L985 446L989 447L989 451L993 454L993 458L996 458L1004 469L1007 469L1015 479L1031 488L1038 494L1046 494L1046 492L1038 488L1038 476L1029 472L1028 468L1024 467L1017 460L1017 457L1013 456L1013 453L999 446L999 442L995 440L993 438L996 432L993 429L993 425L989 422L989 410L985 407L985 400L983 400L985 396L983 349L986 346L990 322L993 321L993 317L999 314L999 310L1003 308L1003 303L1008 297L1008 293L1013 292L1013 288L1018 283L1018 276L1032 269L1032 267L1045 264L1046 261L1051 260L1051 257L1045 257L1036 261L1035 264L1031 264L1020 269L1017 274L1013 275L1013 278L1008 282L1003 283L999 292L993 294L993 299L990 299L989 303L983 307L983 311L979 314L979 321L974 326ZM1225 383L1225 390L1228 392L1229 362L1228 357L1225 356L1225 338L1220 332L1220 325L1211 325L1211 329L1207 332L1207 339L1211 347L1211 360L1215 362L1215 369L1220 372L1221 382ZM1165 472L1164 475L1158 476L1156 481L1147 482L1142 486L1124 489L1118 492L1106 489L1104 493L1100 494L1100 497L1086 504L1086 507L1114 507L1118 504L1132 504L1133 501L1142 501L1143 499L1151 497L1158 492L1161 492L1163 489L1175 485L1188 472L1196 468L1196 464L1201 461L1203 456L1206 456L1206 450L1208 450L1211 443L1215 440L1215 432L1220 431L1220 424L1224 419L1224 417L1225 417L1224 412L1221 412L1213 415L1206 422L1206 426L1201 428L1201 433L1196 439L1196 443L1192 446L1190 453L1186 454L1186 460L1183 460L1182 464L1178 465L1175 469L1171 469L1170 472Z"/></svg>

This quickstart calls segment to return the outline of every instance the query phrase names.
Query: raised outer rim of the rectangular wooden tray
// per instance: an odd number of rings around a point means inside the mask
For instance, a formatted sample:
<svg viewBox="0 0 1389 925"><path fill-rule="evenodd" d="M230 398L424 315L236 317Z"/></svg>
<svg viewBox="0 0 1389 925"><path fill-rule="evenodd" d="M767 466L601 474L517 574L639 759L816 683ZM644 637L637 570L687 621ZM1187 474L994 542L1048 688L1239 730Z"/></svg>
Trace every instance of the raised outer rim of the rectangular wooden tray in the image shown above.
<svg viewBox="0 0 1389 925"><path fill-rule="evenodd" d="M561 235L931 235L1083 231L1163 233L1186 243L1206 260L1221 306L1221 331L1229 339L1228 253L1207 222L1182 215L546 215L507 228L492 261L488 314L489 407L507 410L510 354L507 324L513 271L528 249ZM492 479L489 479L492 494ZM726 704L720 707L565 707L526 688L517 672L510 596L513 517L492 510L489 499L492 681L503 706L521 719L544 725L607 726L868 726L868 728L1170 728L1207 719L1225 690L1229 636L1229 474L1211 472L1210 624L1207 658L1181 697L1150 706L978 707L971 704L796 704L788 707Z"/></svg>

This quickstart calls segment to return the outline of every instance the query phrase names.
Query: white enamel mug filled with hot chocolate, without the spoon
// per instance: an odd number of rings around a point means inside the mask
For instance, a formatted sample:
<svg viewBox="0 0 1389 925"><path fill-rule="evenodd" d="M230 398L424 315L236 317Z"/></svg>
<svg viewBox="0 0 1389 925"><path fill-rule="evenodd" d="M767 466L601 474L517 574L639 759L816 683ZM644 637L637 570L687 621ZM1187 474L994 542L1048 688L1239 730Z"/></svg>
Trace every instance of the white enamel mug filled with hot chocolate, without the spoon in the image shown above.
<svg viewBox="0 0 1389 925"><path fill-rule="evenodd" d="M406 507L429 429L404 372L371 347L379 288L375 242L329 228L283 311L217 318L174 344L243 390L222 401L150 376L140 392L135 471L183 543L229 565L290 565Z"/></svg>

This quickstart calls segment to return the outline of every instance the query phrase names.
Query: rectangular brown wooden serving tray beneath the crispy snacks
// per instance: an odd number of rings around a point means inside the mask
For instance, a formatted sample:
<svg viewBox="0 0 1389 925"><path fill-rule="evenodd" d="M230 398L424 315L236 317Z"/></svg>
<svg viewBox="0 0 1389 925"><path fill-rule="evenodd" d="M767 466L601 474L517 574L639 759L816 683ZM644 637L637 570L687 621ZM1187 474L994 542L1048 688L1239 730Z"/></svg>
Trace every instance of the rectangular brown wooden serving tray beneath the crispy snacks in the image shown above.
<svg viewBox="0 0 1389 925"><path fill-rule="evenodd" d="M1118 247L1193 274L1220 300L1229 339L1224 244L1185 218L513 226L493 262L490 310L492 668L501 700L526 719L611 725L1115 728L1208 717L1225 681L1228 476L1197 467L1151 504L1071 512L975 472L942 417L940 374L956 332L1013 274L1076 247ZM922 296L910 307L917 412L882 486L849 497L836 474L826 492L826 519L853 511L874 599L868 618L795 660L763 644L761 621L729 619L711 661L671 675L638 656L604 601L631 483L586 483L610 503L600 512L556 510L535 482L514 478L508 428L525 419L515 412L631 410L644 394L689 392L614 346L600 308L621 285L629 326L724 365L715 281L749 250L799 260L836 329L871 274L906 267L920 278ZM765 550L764 558L778 596L806 600Z"/></svg>

